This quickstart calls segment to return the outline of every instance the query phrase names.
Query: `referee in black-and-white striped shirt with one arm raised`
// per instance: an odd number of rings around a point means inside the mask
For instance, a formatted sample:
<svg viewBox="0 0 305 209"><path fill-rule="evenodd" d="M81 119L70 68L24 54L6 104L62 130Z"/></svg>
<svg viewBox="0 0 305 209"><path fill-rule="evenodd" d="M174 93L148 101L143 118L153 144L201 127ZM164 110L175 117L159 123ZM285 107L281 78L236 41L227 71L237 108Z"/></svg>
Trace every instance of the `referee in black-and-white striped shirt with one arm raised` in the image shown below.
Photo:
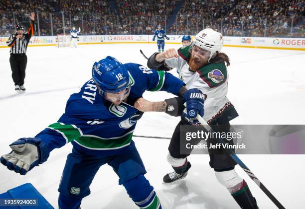
<svg viewBox="0 0 305 209"><path fill-rule="evenodd" d="M10 47L10 68L12 71L12 79L15 83L15 90L19 92L25 91L24 78L25 78L25 68L27 63L27 57L25 55L28 42L32 35L34 34L34 12L31 12L31 24L27 32L24 33L24 28L22 25L16 26L16 33L9 36L6 44Z"/></svg>

